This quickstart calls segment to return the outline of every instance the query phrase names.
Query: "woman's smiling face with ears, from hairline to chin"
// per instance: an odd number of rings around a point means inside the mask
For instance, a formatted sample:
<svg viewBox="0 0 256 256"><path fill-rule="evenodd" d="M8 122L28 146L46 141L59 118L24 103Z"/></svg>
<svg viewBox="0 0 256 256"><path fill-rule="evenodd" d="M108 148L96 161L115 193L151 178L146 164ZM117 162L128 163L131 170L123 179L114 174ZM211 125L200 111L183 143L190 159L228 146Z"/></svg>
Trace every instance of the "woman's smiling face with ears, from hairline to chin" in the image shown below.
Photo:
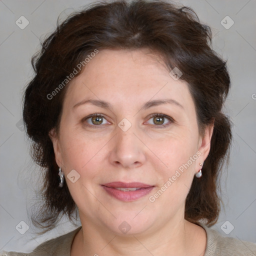
<svg viewBox="0 0 256 256"><path fill-rule="evenodd" d="M70 81L59 136L50 134L81 222L138 234L184 218L211 133L199 136L188 86L160 58L148 49L104 49ZM115 188L125 185L140 189Z"/></svg>

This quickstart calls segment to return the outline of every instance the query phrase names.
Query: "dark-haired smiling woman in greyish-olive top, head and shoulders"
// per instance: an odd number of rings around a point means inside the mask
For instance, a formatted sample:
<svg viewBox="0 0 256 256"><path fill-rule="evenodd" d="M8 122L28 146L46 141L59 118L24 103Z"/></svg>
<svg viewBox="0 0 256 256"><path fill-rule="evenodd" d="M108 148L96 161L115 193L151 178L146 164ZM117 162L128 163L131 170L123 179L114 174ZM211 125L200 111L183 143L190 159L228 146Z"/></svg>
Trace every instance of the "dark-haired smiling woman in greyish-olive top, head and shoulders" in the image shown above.
<svg viewBox="0 0 256 256"><path fill-rule="evenodd" d="M34 223L81 226L31 253L255 255L210 229L228 156L230 80L187 7L113 1L74 13L33 58L23 118L45 168Z"/></svg>

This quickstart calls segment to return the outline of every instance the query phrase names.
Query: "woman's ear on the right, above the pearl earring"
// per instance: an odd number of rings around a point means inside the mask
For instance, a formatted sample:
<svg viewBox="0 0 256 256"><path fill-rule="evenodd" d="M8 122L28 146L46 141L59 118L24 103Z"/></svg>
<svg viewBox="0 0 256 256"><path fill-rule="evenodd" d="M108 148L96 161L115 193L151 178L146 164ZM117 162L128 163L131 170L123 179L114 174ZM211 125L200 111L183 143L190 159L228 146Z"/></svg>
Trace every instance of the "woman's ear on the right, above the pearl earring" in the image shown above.
<svg viewBox="0 0 256 256"><path fill-rule="evenodd" d="M201 152L199 160L201 163L207 158L210 151L210 140L213 133L214 121L211 124L207 125L204 129L203 136L200 136L198 141L198 151ZM199 163L198 163L199 164Z"/></svg>

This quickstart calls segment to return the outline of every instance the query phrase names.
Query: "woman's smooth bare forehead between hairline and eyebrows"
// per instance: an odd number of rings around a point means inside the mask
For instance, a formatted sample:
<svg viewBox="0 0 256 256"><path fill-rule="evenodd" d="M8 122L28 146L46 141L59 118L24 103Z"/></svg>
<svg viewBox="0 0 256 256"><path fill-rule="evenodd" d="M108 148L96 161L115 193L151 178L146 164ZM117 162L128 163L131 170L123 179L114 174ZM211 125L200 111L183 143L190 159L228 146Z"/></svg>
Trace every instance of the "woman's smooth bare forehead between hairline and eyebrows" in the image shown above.
<svg viewBox="0 0 256 256"><path fill-rule="evenodd" d="M107 98L118 105L150 98L174 97L191 100L186 82L169 75L162 58L149 49L103 49L89 60L83 71L70 81L65 101L74 103L84 97Z"/></svg>

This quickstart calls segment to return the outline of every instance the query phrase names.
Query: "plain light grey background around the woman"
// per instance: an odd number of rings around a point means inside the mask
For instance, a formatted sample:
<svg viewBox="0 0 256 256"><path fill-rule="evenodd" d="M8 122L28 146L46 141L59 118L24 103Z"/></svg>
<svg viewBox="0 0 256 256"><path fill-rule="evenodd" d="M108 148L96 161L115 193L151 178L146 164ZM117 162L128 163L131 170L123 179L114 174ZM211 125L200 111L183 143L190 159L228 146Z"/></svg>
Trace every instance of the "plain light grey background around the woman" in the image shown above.
<svg viewBox="0 0 256 256"><path fill-rule="evenodd" d="M89 2L92 1L0 0L0 250L31 251L40 242L75 228L63 219L44 236L33 233L27 212L35 200L39 168L29 156L29 141L19 123L21 95L33 75L30 58L39 49L39 38L55 28L60 13L63 20ZM221 210L213 228L224 236L256 242L256 1L179 3L192 7L200 21L212 27L213 48L228 60L232 81L224 109L233 122L230 164L221 179L225 210ZM21 15L29 21L24 29L15 24ZM234 21L229 29L220 23L227 15ZM222 22L230 25L228 19ZM15 228L21 220L29 226L24 234ZM225 221L229 222L221 229Z"/></svg>

